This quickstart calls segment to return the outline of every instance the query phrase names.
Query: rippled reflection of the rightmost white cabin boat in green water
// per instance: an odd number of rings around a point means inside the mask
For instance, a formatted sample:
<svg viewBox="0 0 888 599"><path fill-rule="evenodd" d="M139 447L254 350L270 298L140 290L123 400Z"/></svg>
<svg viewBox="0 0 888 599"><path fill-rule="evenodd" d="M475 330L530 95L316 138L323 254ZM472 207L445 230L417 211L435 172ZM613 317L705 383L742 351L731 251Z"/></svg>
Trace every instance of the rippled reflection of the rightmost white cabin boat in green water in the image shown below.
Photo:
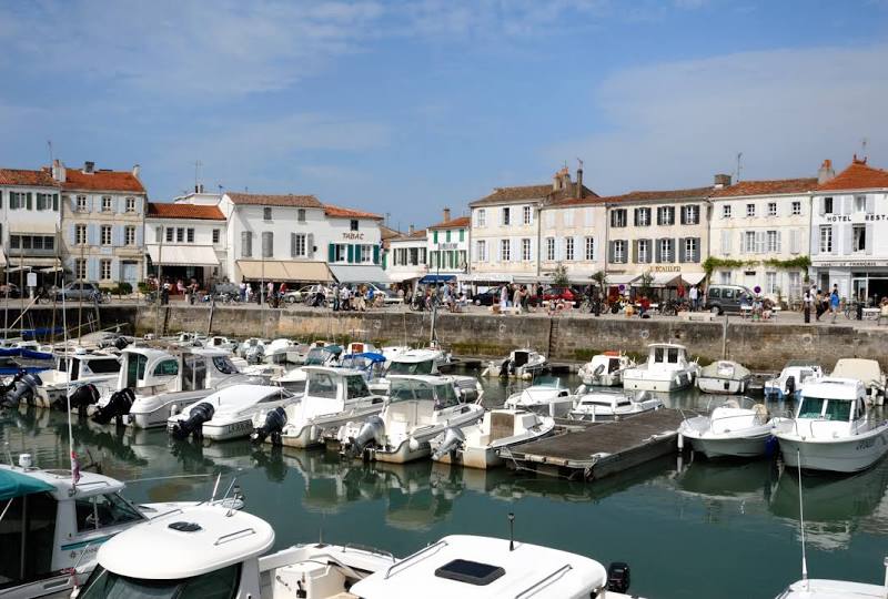
<svg viewBox="0 0 888 599"><path fill-rule="evenodd" d="M888 532L888 459L854 476L803 474L805 540L818 548L846 549L855 534ZM798 526L798 470L785 468L768 509Z"/></svg>

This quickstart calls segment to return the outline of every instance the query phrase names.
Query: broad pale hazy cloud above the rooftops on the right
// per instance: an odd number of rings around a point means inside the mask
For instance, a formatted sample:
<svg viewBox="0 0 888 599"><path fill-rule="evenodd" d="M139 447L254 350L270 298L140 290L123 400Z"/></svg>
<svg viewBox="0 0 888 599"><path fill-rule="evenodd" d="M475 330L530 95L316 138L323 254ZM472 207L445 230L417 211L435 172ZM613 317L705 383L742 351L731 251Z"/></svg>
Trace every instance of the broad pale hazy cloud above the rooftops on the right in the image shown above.
<svg viewBox="0 0 888 599"><path fill-rule="evenodd" d="M862 138L888 165L888 47L743 52L652 64L605 80L589 111L606 128L547 148L579 155L599 193L705 185L736 167L745 179L814 175L846 165ZM597 119L599 122L602 119Z"/></svg>

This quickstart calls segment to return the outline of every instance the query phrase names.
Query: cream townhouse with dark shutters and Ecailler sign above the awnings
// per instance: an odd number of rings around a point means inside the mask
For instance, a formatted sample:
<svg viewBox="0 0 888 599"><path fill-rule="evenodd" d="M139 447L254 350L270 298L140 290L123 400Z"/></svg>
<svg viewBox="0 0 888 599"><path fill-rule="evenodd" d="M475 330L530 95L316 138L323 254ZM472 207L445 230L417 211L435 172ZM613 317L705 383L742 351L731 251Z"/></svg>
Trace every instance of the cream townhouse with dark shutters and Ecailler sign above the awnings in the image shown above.
<svg viewBox="0 0 888 599"><path fill-rule="evenodd" d="M729 184L716 175L716 185ZM654 287L697 284L709 251L713 187L636 191L603 197L607 205L607 283L638 285L649 274Z"/></svg>

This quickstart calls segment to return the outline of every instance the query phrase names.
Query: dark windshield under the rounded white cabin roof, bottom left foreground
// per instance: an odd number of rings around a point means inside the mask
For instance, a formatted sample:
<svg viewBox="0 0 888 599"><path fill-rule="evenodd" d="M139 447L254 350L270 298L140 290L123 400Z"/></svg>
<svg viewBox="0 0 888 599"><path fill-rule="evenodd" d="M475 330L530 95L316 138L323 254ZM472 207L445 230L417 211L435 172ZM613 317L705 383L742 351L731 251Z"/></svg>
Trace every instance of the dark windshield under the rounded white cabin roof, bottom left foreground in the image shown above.
<svg viewBox="0 0 888 599"><path fill-rule="evenodd" d="M201 597L205 599L230 599L238 593L241 565L234 564L191 578L149 580L131 578L97 567L90 576L81 599L107 597L151 597L152 599Z"/></svg>

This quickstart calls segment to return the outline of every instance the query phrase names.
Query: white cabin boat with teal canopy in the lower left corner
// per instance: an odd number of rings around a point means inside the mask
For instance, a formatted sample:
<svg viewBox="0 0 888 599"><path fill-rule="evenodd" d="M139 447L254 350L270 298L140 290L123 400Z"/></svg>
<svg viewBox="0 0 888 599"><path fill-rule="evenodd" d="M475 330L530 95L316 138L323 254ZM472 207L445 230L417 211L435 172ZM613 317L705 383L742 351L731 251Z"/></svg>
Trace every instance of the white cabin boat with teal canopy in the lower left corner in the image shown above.
<svg viewBox="0 0 888 599"><path fill-rule="evenodd" d="M95 567L109 539L180 512L196 501L134 505L123 498L123 483L91 471L42 470L29 454L19 466L0 465L0 597L23 599L70 592ZM240 498L222 504L240 507ZM212 509L219 509L216 507Z"/></svg>

